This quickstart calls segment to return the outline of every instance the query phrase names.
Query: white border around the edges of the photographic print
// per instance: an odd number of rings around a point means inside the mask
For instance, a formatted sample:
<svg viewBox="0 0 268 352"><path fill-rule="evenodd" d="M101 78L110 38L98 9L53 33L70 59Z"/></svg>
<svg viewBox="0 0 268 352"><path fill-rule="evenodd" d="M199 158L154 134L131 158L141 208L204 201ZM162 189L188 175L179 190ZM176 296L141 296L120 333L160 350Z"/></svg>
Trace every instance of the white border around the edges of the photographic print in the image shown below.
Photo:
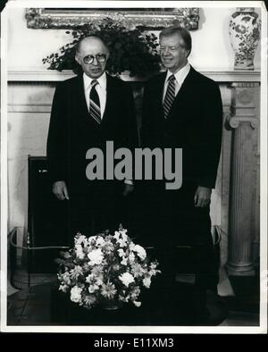
<svg viewBox="0 0 268 352"><path fill-rule="evenodd" d="M174 2L166 1L165 7L240 7L241 2L227 1L204 1L204 2ZM9 8L19 7L111 7L111 2L94 1L33 1L21 0L10 1ZM123 7L159 7L163 2L124 2ZM114 1L114 7L122 7L122 2ZM205 326L7 326L6 325L6 272L7 272L7 13L4 10L1 16L1 331L6 332L120 332L120 333L230 333L249 334L267 332L267 13L264 3L245 1L245 7L262 7L262 94L261 94L261 314L260 326L258 327L205 327Z"/></svg>

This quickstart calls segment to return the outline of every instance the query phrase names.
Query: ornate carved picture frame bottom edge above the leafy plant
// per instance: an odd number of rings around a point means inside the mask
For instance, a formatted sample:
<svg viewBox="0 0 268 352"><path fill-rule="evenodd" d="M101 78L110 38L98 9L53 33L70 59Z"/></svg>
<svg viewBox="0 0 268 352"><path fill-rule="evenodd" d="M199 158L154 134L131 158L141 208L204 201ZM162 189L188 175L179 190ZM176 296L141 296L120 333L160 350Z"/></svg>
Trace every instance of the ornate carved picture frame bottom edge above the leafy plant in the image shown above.
<svg viewBox="0 0 268 352"><path fill-rule="evenodd" d="M79 29L103 18L120 19L128 28L163 29L178 24L198 29L199 9L183 8L28 8L29 29Z"/></svg>

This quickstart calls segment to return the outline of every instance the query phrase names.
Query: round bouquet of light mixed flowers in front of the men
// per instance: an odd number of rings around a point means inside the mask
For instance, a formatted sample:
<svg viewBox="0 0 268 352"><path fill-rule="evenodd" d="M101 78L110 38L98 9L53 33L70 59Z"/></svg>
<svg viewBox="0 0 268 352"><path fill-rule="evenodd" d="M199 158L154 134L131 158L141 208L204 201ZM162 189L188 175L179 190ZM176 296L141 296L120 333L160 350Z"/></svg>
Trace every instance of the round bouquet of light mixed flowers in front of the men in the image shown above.
<svg viewBox="0 0 268 352"><path fill-rule="evenodd" d="M88 309L106 300L141 306L141 288L149 289L160 272L157 261L150 262L145 248L135 245L122 228L114 235L106 230L89 238L78 233L74 247L62 256L57 261L59 289Z"/></svg>

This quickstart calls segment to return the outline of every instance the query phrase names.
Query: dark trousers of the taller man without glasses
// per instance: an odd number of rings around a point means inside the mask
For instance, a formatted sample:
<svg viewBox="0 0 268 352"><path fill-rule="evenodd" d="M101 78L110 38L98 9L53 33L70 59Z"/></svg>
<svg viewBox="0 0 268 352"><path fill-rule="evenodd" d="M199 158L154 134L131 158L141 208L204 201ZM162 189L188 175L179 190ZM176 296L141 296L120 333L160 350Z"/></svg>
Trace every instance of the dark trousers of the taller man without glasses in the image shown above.
<svg viewBox="0 0 268 352"><path fill-rule="evenodd" d="M155 253L162 262L166 284L170 284L174 272L180 272L181 262L176 247L191 247L193 255L185 262L196 274L197 287L215 291L219 277L210 208L194 206L196 189L195 185L189 184L179 191L160 189L156 192L154 189L154 193L147 194L143 243L158 248Z"/></svg>

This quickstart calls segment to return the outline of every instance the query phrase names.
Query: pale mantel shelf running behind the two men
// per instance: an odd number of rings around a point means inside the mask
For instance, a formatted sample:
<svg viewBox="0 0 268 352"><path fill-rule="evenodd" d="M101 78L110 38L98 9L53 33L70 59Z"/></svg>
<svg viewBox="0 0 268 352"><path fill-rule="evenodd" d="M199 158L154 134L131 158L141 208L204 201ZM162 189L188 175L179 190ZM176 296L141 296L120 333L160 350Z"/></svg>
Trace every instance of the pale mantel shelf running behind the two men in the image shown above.
<svg viewBox="0 0 268 352"><path fill-rule="evenodd" d="M205 76L218 82L260 82L260 71L215 71L215 70L198 70ZM67 80L74 76L72 71L53 71L53 70L9 70L9 82L54 82ZM130 77L129 72L123 72L121 79L126 81L143 81L137 77Z"/></svg>

